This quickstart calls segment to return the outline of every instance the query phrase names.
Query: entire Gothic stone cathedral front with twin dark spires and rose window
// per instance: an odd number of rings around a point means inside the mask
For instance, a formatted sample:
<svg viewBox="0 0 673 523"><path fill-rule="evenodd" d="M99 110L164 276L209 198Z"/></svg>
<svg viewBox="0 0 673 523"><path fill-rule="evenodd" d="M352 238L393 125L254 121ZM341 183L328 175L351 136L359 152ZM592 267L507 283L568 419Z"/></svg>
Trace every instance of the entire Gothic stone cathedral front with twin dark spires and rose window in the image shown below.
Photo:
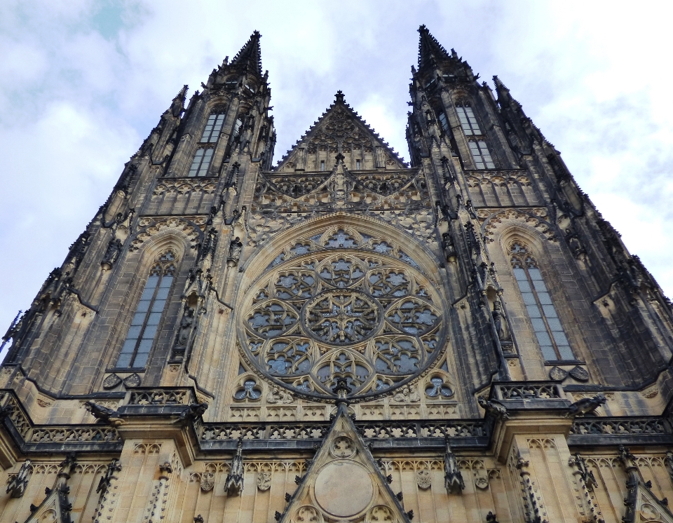
<svg viewBox="0 0 673 523"><path fill-rule="evenodd" d="M179 91L4 336L1 522L673 523L670 301L419 33L410 163L338 91L273 165L257 32Z"/></svg>

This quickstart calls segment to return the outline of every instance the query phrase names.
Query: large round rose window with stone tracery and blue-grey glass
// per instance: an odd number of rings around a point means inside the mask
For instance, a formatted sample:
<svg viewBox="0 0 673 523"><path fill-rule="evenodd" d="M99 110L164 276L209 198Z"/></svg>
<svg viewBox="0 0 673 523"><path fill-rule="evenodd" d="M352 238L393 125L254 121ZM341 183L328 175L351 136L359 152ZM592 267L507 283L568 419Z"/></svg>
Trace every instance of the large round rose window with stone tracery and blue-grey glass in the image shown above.
<svg viewBox="0 0 673 523"><path fill-rule="evenodd" d="M415 264L355 250L340 234L326 238L331 251L297 252L251 287L240 345L260 374L296 393L332 397L344 378L364 399L432 364L444 346L443 306Z"/></svg>

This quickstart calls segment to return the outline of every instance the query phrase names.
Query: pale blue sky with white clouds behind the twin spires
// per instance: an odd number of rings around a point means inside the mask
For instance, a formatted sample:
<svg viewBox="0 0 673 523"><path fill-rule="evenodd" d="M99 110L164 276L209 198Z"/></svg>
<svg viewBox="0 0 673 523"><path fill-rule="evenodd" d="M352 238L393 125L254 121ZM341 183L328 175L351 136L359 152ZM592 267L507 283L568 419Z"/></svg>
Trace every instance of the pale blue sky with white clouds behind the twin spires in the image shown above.
<svg viewBox="0 0 673 523"><path fill-rule="evenodd" d="M262 34L276 159L344 90L402 156L419 25L500 76L673 296L668 2L0 1L0 334L184 83ZM669 35L669 36L667 36Z"/></svg>

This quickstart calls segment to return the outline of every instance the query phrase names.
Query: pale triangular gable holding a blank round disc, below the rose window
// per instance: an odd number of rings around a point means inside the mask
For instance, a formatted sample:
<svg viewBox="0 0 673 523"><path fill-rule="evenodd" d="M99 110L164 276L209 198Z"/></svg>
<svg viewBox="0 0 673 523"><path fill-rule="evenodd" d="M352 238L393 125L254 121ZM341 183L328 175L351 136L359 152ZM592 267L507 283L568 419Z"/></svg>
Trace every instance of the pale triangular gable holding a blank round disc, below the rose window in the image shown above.
<svg viewBox="0 0 673 523"><path fill-rule="evenodd" d="M362 517L370 522L410 522L341 403L279 523Z"/></svg>

